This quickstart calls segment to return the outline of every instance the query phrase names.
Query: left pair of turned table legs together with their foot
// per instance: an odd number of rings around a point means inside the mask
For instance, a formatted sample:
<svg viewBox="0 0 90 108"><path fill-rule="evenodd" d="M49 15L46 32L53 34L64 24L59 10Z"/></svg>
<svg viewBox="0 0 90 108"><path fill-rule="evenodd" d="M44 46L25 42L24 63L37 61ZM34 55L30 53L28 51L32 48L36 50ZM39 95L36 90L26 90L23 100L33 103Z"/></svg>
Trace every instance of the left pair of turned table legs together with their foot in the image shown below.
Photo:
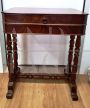
<svg viewBox="0 0 90 108"><path fill-rule="evenodd" d="M9 70L8 91L6 97L8 99L11 99L13 97L17 74L20 72L17 63L16 35L12 34L11 36L11 34L7 34L6 42L7 42L7 64Z"/></svg>

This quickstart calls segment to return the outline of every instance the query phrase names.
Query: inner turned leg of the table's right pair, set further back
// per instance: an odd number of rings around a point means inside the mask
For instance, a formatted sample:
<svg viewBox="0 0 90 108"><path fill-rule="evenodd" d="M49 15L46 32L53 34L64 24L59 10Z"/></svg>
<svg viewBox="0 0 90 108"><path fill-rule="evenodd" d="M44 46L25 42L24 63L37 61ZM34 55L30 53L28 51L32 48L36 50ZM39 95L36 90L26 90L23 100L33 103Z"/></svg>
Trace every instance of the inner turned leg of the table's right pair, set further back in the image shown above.
<svg viewBox="0 0 90 108"><path fill-rule="evenodd" d="M74 39L75 35L70 36L70 45L69 45L69 54L68 54L68 68L67 68L67 74L68 77L71 75L71 69L72 69L72 59L73 59L73 49L74 49Z"/></svg>

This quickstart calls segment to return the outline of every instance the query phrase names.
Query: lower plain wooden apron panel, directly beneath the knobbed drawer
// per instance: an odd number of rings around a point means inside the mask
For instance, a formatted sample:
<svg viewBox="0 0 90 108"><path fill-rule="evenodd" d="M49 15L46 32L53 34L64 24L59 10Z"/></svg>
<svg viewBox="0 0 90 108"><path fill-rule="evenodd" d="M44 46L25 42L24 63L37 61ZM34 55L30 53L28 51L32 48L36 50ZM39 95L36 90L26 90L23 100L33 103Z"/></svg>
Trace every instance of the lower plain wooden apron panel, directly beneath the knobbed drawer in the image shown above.
<svg viewBox="0 0 90 108"><path fill-rule="evenodd" d="M52 32L50 33L50 29ZM85 26L71 25L38 25L38 24L8 24L5 25L6 33L36 33L36 34L85 34Z"/></svg>

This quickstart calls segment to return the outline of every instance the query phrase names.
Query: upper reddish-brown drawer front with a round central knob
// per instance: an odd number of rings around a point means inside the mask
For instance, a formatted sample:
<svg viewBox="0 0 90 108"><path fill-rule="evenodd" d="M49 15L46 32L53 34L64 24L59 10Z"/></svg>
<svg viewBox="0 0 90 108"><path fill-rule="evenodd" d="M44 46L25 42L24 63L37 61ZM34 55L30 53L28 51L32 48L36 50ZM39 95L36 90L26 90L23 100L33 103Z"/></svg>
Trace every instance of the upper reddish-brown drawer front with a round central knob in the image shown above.
<svg viewBox="0 0 90 108"><path fill-rule="evenodd" d="M5 23L86 24L86 15L4 14Z"/></svg>

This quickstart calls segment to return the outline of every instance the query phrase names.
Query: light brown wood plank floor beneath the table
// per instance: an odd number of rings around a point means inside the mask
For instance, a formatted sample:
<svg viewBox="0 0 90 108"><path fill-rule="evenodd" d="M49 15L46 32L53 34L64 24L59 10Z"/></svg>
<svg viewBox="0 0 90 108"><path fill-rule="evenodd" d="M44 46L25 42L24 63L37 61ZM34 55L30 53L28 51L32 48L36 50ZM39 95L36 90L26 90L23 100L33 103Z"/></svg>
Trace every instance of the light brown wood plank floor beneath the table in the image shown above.
<svg viewBox="0 0 90 108"><path fill-rule="evenodd" d="M8 74L0 74L0 108L90 108L90 84L85 75L77 78L77 102L71 100L67 83L59 80L21 81L17 82L14 98L7 100Z"/></svg>

